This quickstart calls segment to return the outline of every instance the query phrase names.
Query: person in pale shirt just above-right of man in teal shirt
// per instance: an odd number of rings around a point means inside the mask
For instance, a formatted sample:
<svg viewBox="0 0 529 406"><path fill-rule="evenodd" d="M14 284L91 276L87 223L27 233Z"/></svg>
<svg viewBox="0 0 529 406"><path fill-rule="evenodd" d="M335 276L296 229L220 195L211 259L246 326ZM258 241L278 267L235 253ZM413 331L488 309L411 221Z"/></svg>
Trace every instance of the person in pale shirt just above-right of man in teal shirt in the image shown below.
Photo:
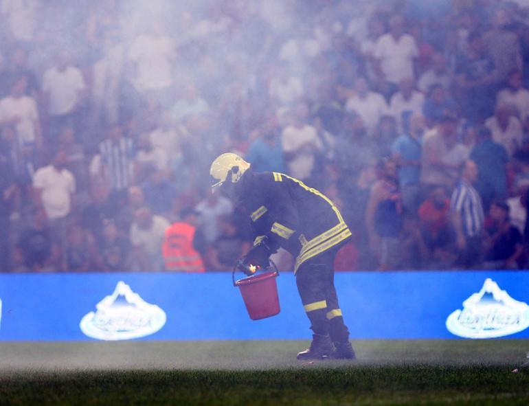
<svg viewBox="0 0 529 406"><path fill-rule="evenodd" d="M513 156L524 141L520 120L511 112L510 106L499 104L494 115L485 121L485 126L491 130L493 140L504 146L509 157Z"/></svg>

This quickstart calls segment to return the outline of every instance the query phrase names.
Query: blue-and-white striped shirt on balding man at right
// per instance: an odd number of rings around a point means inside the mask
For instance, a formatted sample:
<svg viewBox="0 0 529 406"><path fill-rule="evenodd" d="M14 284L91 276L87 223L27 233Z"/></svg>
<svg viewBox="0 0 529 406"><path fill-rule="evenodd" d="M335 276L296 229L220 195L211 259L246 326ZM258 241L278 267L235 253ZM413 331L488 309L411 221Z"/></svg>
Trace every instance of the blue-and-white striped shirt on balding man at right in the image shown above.
<svg viewBox="0 0 529 406"><path fill-rule="evenodd" d="M452 193L451 210L461 216L464 235L480 236L484 227L484 213L480 194L472 185L460 181Z"/></svg>

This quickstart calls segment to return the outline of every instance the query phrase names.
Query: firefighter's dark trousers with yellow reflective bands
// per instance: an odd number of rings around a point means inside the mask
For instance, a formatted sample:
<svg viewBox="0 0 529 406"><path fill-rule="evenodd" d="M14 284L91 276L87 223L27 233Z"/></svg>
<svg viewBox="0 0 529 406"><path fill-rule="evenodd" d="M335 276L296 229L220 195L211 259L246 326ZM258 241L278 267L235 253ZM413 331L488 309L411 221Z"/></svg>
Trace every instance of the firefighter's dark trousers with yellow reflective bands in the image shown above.
<svg viewBox="0 0 529 406"><path fill-rule="evenodd" d="M335 289L336 253L336 249L331 249L306 260L297 269L296 284L313 332L330 334L333 341L344 343L349 340L349 330Z"/></svg>

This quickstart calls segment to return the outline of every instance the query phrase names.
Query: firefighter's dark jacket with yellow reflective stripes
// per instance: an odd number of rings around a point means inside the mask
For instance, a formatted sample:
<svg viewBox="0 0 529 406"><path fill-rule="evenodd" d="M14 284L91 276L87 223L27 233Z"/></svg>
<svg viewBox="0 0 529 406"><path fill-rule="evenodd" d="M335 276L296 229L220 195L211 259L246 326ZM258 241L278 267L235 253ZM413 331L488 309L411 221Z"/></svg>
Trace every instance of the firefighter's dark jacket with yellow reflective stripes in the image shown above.
<svg viewBox="0 0 529 406"><path fill-rule="evenodd" d="M249 215L254 243L267 236L273 249L289 251L296 258L294 271L306 260L337 249L351 236L333 202L298 179L250 169L237 185L239 206Z"/></svg>

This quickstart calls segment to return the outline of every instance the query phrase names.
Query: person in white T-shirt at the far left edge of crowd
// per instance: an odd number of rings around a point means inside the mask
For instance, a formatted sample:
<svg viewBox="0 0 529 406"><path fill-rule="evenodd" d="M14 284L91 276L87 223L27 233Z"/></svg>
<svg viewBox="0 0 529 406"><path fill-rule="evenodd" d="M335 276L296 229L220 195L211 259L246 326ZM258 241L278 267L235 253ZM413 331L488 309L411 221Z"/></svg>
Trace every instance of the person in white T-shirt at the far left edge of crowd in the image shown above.
<svg viewBox="0 0 529 406"><path fill-rule="evenodd" d="M26 95L27 78L19 76L11 87L8 97L0 100L0 122L12 125L20 146L42 146L41 124L36 102Z"/></svg>

